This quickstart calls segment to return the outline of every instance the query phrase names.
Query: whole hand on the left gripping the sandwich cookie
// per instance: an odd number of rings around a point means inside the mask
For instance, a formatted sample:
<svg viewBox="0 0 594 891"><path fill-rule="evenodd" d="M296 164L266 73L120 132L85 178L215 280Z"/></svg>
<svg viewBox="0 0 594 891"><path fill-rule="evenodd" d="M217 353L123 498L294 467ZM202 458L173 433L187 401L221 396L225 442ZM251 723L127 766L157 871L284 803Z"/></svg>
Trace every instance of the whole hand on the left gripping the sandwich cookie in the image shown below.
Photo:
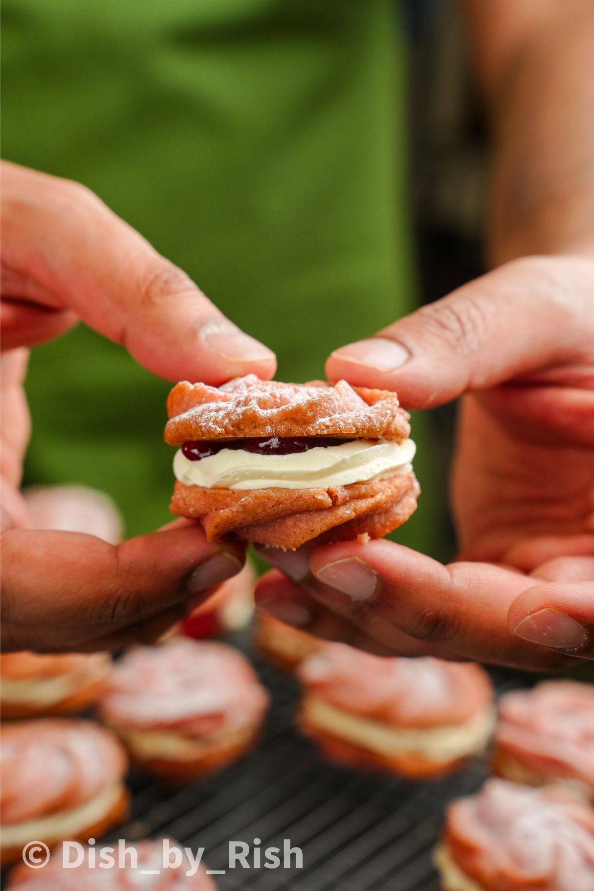
<svg viewBox="0 0 594 891"><path fill-rule="evenodd" d="M186 520L118 545L32 528L20 494L26 347L82 319L151 372L211 384L272 377L274 356L83 186L3 164L2 228L2 645L154 640L240 570L243 549L208 544Z"/></svg>

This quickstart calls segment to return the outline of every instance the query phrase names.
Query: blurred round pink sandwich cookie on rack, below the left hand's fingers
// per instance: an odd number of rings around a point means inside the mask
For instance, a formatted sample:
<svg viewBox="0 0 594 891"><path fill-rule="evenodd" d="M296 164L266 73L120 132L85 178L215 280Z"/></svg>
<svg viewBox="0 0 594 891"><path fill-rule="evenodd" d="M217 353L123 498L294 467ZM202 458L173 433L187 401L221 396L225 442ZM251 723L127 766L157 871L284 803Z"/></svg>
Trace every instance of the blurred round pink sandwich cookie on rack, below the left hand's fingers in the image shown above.
<svg viewBox="0 0 594 891"><path fill-rule="evenodd" d="M240 652L183 637L129 650L100 700L134 762L174 784L248 751L267 707L268 694Z"/></svg>

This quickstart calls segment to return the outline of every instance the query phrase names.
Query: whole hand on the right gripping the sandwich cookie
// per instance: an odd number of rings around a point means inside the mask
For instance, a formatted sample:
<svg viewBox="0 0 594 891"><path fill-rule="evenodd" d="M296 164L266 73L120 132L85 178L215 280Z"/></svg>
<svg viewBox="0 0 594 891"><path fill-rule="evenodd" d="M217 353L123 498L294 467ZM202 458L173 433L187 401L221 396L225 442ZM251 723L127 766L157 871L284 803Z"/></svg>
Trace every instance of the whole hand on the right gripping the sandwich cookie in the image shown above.
<svg viewBox="0 0 594 891"><path fill-rule="evenodd" d="M460 560L388 541L265 549L256 597L380 653L527 668L594 658L594 262L500 266L330 356L330 380L461 400L452 475Z"/></svg>

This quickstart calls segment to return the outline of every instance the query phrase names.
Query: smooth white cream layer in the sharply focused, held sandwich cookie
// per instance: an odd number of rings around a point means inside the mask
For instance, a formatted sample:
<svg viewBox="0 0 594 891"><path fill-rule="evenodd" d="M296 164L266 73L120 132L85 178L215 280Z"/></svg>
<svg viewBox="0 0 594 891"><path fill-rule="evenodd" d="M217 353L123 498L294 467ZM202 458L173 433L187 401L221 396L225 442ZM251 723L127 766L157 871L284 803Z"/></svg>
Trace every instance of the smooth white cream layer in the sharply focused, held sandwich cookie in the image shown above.
<svg viewBox="0 0 594 891"><path fill-rule="evenodd" d="M174 473L184 486L213 489L304 489L348 486L408 473L416 446L355 439L340 446L316 447L297 454L252 454L224 448L200 461L190 461L180 449Z"/></svg>

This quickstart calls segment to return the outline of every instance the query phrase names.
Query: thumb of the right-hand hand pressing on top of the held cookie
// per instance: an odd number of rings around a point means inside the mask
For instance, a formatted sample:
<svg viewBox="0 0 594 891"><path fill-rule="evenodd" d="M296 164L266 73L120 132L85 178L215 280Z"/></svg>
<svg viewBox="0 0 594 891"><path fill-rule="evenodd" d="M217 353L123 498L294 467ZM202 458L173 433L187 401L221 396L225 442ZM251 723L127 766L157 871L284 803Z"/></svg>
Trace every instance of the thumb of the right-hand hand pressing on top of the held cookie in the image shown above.
<svg viewBox="0 0 594 891"><path fill-rule="evenodd" d="M585 364L594 339L592 290L589 259L514 260L336 350L326 373L395 389L406 408L417 409L549 365Z"/></svg>

